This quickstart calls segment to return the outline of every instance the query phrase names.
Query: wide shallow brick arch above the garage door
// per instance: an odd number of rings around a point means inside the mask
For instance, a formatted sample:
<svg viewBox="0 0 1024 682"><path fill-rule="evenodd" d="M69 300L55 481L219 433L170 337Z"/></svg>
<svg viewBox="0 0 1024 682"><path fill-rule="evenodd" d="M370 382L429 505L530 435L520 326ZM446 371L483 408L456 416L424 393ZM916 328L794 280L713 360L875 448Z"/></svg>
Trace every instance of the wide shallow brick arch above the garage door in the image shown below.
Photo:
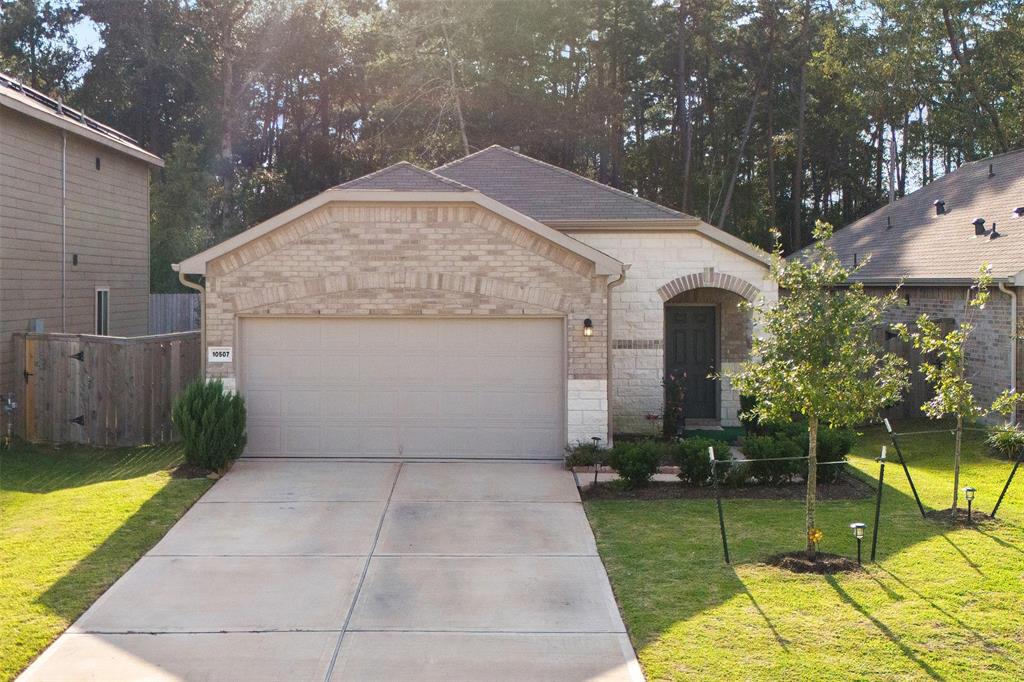
<svg viewBox="0 0 1024 682"><path fill-rule="evenodd" d="M421 289L476 294L565 312L571 307L563 294L550 289L523 287L494 278L399 269L386 272L329 274L322 278L308 278L287 285L250 290L234 298L234 309L237 311L250 310L314 296L367 289Z"/></svg>

